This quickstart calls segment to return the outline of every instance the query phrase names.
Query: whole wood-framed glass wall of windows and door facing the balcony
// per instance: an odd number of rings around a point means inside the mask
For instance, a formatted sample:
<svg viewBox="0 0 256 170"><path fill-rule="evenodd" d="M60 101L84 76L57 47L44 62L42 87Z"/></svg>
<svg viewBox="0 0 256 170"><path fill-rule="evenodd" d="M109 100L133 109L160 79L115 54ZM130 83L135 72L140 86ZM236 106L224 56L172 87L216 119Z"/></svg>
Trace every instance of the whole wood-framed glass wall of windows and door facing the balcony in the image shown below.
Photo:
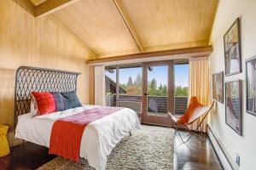
<svg viewBox="0 0 256 170"><path fill-rule="evenodd" d="M105 68L106 105L136 111L141 121L172 126L170 117L187 109L188 60L168 60Z"/></svg>

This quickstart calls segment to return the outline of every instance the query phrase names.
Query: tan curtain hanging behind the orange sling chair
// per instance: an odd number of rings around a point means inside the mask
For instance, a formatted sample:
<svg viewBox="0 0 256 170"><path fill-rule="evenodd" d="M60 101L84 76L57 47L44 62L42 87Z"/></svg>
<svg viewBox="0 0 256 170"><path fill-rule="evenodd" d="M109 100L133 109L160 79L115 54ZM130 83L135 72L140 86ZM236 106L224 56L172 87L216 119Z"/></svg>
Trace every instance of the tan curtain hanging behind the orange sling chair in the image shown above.
<svg viewBox="0 0 256 170"><path fill-rule="evenodd" d="M209 59L208 57L190 58L189 59L189 99L195 96L202 105L210 104L210 86L209 86ZM201 117L202 119L202 117ZM203 123L203 132L207 132L207 120ZM201 120L200 120L201 121ZM195 130L199 120L189 126ZM199 129L200 130L200 129Z"/></svg>

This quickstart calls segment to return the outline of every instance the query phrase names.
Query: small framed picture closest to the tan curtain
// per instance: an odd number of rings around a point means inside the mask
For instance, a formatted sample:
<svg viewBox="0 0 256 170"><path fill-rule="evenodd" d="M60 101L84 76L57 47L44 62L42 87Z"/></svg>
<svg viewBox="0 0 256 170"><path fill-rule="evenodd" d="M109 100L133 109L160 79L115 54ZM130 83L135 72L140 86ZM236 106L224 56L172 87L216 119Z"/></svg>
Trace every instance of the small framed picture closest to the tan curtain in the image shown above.
<svg viewBox="0 0 256 170"><path fill-rule="evenodd" d="M224 71L212 74L212 97L224 104Z"/></svg>

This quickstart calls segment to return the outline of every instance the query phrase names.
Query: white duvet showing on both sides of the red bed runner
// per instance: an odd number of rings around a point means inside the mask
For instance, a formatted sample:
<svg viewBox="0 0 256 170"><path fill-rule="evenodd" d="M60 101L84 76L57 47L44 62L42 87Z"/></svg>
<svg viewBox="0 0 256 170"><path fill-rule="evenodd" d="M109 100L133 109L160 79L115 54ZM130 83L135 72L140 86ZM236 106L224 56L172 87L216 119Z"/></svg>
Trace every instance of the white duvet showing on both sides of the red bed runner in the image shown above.
<svg viewBox="0 0 256 170"><path fill-rule="evenodd" d="M49 148L51 128L55 120L71 116L92 105L84 105L67 111L59 111L45 116L33 116L32 113L18 117L15 138L25 139ZM121 109L95 122L84 129L79 156L87 159L90 167L105 169L107 156L114 146L134 128L139 128L137 113L131 109Z"/></svg>

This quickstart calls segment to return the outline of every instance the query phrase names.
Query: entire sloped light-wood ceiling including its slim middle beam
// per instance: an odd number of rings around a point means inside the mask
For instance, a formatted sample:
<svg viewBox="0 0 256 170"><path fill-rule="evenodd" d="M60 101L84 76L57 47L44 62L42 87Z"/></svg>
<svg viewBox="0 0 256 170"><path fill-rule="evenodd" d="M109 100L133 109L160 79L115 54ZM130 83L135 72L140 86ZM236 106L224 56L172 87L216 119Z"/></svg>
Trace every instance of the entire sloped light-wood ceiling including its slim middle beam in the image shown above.
<svg viewBox="0 0 256 170"><path fill-rule="evenodd" d="M31 1L39 8L52 0ZM218 0L76 0L51 15L106 58L206 46L217 7Z"/></svg>

